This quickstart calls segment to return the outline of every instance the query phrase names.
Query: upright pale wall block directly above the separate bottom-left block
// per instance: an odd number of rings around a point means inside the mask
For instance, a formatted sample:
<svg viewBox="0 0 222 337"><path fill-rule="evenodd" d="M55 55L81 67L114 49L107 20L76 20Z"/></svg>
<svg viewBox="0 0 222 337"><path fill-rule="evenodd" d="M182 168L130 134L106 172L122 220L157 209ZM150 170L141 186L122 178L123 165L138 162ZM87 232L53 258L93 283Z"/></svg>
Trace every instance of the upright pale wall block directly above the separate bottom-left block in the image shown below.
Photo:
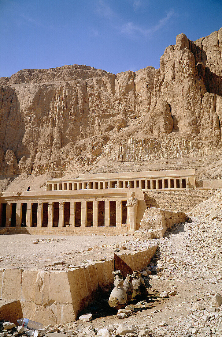
<svg viewBox="0 0 222 337"><path fill-rule="evenodd" d="M5 269L2 280L1 297L22 299L22 269Z"/></svg>

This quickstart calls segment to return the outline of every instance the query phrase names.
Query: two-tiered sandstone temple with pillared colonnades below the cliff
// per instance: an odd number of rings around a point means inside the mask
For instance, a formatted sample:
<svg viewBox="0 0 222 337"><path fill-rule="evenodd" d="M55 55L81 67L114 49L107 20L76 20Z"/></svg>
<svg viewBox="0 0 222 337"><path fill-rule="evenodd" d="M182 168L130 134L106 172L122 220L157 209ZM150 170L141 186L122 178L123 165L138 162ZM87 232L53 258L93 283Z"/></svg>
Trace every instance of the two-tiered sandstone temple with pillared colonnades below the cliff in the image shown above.
<svg viewBox="0 0 222 337"><path fill-rule="evenodd" d="M133 190L138 228L146 209L143 191L195 188L194 174L175 170L50 179L45 190L1 193L1 227L128 227L126 201Z"/></svg>

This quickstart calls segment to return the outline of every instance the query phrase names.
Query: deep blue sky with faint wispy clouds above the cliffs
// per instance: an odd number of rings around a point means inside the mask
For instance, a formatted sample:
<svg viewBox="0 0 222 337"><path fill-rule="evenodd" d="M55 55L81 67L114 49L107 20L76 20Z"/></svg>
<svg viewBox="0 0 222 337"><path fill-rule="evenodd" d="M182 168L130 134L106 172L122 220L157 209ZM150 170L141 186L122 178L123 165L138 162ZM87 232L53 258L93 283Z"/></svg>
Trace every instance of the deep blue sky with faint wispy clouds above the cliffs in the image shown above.
<svg viewBox="0 0 222 337"><path fill-rule="evenodd" d="M0 0L0 77L66 64L158 68L178 34L221 26L221 0Z"/></svg>

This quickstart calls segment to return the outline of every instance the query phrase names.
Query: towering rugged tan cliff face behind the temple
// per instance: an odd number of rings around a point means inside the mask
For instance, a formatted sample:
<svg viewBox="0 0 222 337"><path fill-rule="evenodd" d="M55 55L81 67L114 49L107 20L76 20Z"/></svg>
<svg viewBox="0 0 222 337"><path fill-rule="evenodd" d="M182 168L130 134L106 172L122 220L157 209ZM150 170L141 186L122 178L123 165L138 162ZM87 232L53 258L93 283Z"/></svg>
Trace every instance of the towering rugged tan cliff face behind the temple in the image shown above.
<svg viewBox="0 0 222 337"><path fill-rule="evenodd" d="M0 79L0 174L60 177L104 161L221 153L222 28L166 48L160 68L84 65Z"/></svg>

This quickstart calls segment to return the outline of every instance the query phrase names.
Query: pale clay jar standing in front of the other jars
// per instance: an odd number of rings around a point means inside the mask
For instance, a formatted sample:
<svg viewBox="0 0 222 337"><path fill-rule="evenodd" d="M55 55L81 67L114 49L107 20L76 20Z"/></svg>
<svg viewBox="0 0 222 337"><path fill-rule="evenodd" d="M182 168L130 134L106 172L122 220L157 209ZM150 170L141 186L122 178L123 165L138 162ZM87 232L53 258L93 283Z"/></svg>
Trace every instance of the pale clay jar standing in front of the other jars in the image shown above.
<svg viewBox="0 0 222 337"><path fill-rule="evenodd" d="M116 281L116 282L115 282ZM127 305L127 295L123 288L123 280L115 280L115 288L109 297L109 306L115 309L123 309Z"/></svg>

